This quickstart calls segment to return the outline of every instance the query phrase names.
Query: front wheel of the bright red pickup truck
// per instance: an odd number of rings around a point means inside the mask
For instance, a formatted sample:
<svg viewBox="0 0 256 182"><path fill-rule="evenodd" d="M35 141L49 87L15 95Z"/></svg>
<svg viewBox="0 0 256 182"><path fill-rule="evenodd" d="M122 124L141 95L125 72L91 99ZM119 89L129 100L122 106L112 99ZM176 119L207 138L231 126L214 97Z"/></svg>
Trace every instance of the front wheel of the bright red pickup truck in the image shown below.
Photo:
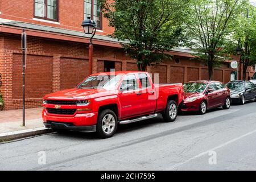
<svg viewBox="0 0 256 182"><path fill-rule="evenodd" d="M110 138L117 131L117 115L113 110L102 110L98 115L97 134L100 138Z"/></svg>

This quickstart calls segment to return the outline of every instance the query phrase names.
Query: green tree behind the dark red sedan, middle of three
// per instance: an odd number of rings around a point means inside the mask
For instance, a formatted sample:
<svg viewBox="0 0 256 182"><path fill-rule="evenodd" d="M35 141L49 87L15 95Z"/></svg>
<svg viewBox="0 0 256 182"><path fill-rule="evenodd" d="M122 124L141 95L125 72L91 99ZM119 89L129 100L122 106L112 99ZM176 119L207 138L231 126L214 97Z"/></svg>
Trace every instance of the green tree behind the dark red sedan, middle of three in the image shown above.
<svg viewBox="0 0 256 182"><path fill-rule="evenodd" d="M220 63L233 21L240 13L243 0L192 0L185 21L186 45L208 65L209 80L213 68Z"/></svg>

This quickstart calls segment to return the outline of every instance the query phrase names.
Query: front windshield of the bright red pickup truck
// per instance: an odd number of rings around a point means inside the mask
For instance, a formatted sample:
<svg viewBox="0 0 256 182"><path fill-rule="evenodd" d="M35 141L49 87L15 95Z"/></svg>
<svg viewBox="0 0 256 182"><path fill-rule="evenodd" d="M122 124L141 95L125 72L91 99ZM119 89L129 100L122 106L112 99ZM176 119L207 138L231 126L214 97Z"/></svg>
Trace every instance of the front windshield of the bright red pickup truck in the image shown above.
<svg viewBox="0 0 256 182"><path fill-rule="evenodd" d="M77 88L79 89L106 89L114 90L122 75L96 75L90 76Z"/></svg>

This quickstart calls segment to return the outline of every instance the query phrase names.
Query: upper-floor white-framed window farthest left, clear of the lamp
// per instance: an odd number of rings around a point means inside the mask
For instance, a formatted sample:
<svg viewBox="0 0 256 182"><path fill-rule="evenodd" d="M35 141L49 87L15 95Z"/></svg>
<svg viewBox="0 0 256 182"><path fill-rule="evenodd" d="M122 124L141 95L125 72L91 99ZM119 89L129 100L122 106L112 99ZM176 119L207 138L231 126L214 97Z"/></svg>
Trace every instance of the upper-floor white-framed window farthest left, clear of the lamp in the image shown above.
<svg viewBox="0 0 256 182"><path fill-rule="evenodd" d="M35 0L35 17L57 21L57 0Z"/></svg>

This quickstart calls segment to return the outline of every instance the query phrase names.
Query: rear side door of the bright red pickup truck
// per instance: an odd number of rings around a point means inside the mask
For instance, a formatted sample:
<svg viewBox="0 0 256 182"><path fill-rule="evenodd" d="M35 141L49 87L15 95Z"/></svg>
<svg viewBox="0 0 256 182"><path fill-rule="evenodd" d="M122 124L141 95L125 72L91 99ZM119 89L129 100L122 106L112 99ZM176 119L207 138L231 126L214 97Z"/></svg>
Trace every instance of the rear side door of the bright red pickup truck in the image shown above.
<svg viewBox="0 0 256 182"><path fill-rule="evenodd" d="M141 103L140 114L154 113L156 110L156 93L154 85L146 73L138 73L141 95L138 97Z"/></svg>

